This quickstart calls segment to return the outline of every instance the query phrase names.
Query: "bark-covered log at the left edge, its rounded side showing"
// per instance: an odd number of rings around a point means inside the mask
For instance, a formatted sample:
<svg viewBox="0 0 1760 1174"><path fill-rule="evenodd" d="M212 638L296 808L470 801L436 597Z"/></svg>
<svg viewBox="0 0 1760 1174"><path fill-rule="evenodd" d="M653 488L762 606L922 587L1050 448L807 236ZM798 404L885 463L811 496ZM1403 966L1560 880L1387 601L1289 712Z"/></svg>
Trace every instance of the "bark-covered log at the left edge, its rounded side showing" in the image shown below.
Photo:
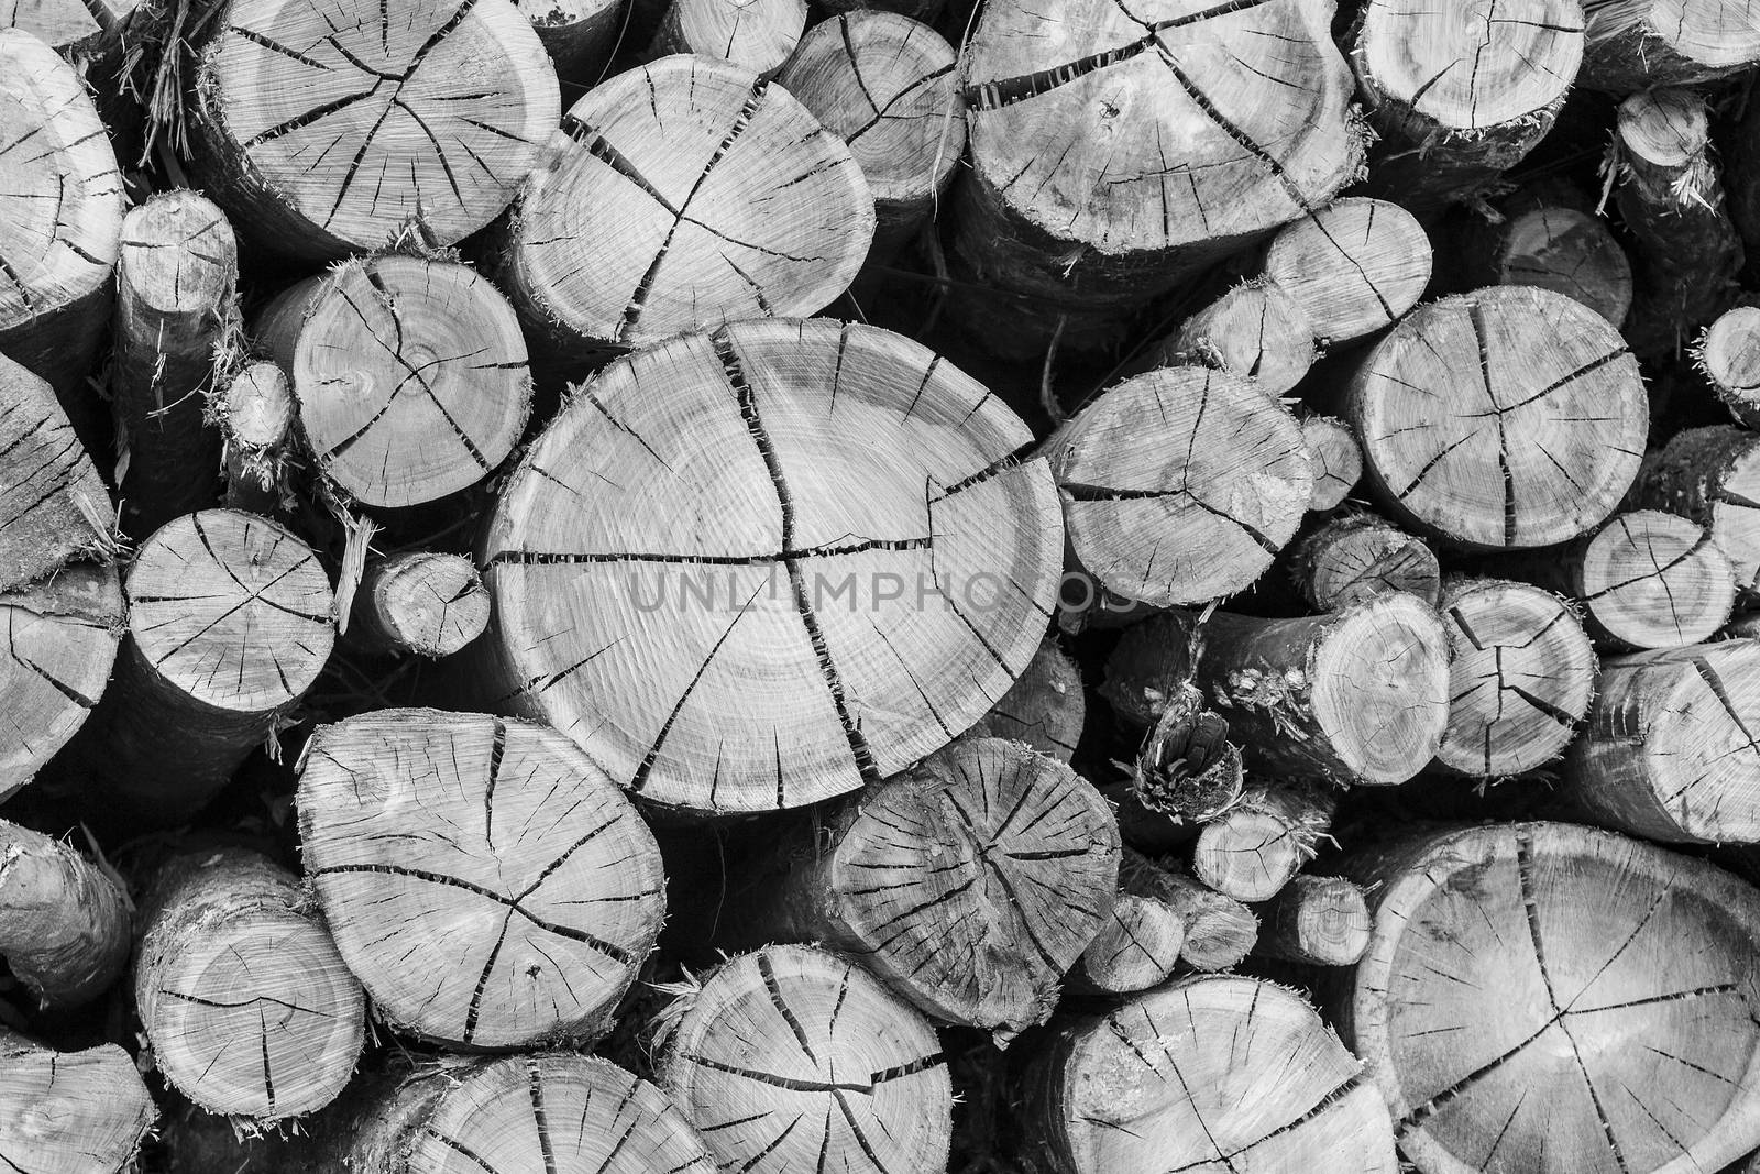
<svg viewBox="0 0 1760 1174"><path fill-rule="evenodd" d="M0 820L0 958L39 1003L104 994L128 963L132 912L114 877L72 845Z"/></svg>

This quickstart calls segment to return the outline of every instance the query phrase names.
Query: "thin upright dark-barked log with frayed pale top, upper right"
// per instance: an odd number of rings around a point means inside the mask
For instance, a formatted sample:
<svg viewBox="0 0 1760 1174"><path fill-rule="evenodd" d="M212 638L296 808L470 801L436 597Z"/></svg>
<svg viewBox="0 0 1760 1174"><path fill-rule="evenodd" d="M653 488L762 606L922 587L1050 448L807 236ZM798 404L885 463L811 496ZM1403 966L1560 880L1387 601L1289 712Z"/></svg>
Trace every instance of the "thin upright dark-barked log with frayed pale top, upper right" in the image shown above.
<svg viewBox="0 0 1760 1174"><path fill-rule="evenodd" d="M1644 357L1670 356L1730 306L1742 268L1742 241L1711 158L1704 95L1633 93L1619 104L1612 158L1619 215L1640 262L1626 340Z"/></svg>

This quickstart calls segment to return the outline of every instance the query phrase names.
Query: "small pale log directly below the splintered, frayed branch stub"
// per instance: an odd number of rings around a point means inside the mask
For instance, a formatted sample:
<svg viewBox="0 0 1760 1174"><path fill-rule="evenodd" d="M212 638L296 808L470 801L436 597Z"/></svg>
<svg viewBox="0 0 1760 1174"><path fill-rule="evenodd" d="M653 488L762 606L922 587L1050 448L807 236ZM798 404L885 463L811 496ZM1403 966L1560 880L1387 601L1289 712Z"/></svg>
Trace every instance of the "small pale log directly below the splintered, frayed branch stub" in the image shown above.
<svg viewBox="0 0 1760 1174"><path fill-rule="evenodd" d="M1332 808L1332 796L1318 787L1250 787L1199 833L1192 875L1236 901L1269 901L1318 850Z"/></svg>

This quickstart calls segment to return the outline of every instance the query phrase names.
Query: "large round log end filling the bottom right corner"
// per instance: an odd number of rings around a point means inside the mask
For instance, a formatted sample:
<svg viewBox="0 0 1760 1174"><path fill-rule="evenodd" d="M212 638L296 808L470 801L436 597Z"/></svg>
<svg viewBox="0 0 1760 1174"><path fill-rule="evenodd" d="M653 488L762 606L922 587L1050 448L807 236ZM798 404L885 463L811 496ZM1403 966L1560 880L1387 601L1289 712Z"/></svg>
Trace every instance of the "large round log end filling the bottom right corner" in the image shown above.
<svg viewBox="0 0 1760 1174"><path fill-rule="evenodd" d="M1749 885L1572 824L1350 871L1375 935L1336 1010L1422 1174L1716 1170L1753 1146Z"/></svg>

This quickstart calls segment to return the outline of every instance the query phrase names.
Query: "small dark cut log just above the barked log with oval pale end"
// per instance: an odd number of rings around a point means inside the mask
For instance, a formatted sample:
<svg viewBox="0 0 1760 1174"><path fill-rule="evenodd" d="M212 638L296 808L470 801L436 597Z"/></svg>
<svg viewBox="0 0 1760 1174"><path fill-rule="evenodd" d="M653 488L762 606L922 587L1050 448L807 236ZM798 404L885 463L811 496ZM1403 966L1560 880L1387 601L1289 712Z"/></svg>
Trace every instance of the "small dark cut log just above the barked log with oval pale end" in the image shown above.
<svg viewBox="0 0 1760 1174"><path fill-rule="evenodd" d="M1429 605L1441 595L1441 569L1433 551L1375 514L1345 514L1295 544L1290 576L1302 598L1320 611L1410 591Z"/></svg>

